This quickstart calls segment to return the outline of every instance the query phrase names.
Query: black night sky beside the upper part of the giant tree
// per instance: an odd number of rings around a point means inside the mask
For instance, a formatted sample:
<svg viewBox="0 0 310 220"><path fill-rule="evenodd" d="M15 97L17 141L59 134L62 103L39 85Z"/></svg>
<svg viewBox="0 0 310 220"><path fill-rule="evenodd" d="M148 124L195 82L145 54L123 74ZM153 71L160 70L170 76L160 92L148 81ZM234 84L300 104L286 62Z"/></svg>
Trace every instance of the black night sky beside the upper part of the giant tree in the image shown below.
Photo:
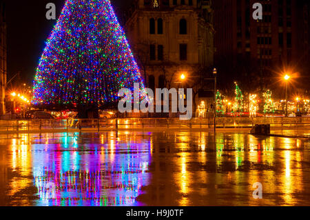
<svg viewBox="0 0 310 220"><path fill-rule="evenodd" d="M47 3L56 5L57 17L65 0L3 0L6 3L8 26L8 79L21 71L21 80L32 83L39 58L56 20L45 17ZM115 7L128 4L127 0L114 0Z"/></svg>

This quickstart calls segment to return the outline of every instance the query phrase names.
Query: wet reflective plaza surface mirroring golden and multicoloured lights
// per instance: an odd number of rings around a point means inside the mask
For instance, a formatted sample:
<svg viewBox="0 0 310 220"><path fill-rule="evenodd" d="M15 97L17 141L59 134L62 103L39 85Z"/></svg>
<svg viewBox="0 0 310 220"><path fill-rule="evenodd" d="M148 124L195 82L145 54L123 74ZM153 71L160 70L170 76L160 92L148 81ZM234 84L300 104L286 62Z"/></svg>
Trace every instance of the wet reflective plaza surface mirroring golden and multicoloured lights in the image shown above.
<svg viewBox="0 0 310 220"><path fill-rule="evenodd" d="M237 131L238 132L238 131ZM254 183L262 199L254 199ZM310 206L310 140L247 132L1 134L0 206Z"/></svg>

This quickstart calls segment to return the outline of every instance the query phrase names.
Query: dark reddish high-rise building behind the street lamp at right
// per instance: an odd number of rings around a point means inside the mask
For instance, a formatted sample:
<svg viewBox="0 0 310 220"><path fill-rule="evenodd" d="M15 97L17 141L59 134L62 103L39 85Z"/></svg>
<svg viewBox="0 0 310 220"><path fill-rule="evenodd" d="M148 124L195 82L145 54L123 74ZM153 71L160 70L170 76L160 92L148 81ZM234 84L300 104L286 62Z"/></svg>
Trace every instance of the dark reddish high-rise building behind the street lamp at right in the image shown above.
<svg viewBox="0 0 310 220"><path fill-rule="evenodd" d="M253 19L256 2L262 3L262 20ZM217 0L214 11L215 62L227 83L265 88L285 68L309 74L308 1Z"/></svg>

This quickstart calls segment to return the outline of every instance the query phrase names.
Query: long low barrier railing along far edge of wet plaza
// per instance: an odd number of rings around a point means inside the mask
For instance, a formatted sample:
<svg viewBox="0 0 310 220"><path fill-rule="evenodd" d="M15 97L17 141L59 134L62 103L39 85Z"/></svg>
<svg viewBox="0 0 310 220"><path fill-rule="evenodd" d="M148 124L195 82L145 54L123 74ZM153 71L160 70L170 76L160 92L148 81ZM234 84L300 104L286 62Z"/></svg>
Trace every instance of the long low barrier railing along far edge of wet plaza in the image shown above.
<svg viewBox="0 0 310 220"><path fill-rule="evenodd" d="M255 124L270 124L271 128L310 126L310 117L270 118L217 118L217 128L251 128ZM158 130L158 129L209 129L214 119L194 118L180 121L175 118L161 119L34 119L1 120L1 133L16 132L82 132L101 130Z"/></svg>

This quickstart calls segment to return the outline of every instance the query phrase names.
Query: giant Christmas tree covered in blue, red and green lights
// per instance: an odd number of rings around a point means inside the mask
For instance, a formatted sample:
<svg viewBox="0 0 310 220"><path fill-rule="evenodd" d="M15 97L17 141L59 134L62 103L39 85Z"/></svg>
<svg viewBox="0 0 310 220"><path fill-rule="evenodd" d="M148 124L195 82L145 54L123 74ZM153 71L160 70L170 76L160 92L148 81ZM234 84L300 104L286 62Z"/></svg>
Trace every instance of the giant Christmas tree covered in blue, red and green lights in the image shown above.
<svg viewBox="0 0 310 220"><path fill-rule="evenodd" d="M109 0L67 0L34 79L34 106L105 108L143 79ZM143 95L142 95L143 97Z"/></svg>

